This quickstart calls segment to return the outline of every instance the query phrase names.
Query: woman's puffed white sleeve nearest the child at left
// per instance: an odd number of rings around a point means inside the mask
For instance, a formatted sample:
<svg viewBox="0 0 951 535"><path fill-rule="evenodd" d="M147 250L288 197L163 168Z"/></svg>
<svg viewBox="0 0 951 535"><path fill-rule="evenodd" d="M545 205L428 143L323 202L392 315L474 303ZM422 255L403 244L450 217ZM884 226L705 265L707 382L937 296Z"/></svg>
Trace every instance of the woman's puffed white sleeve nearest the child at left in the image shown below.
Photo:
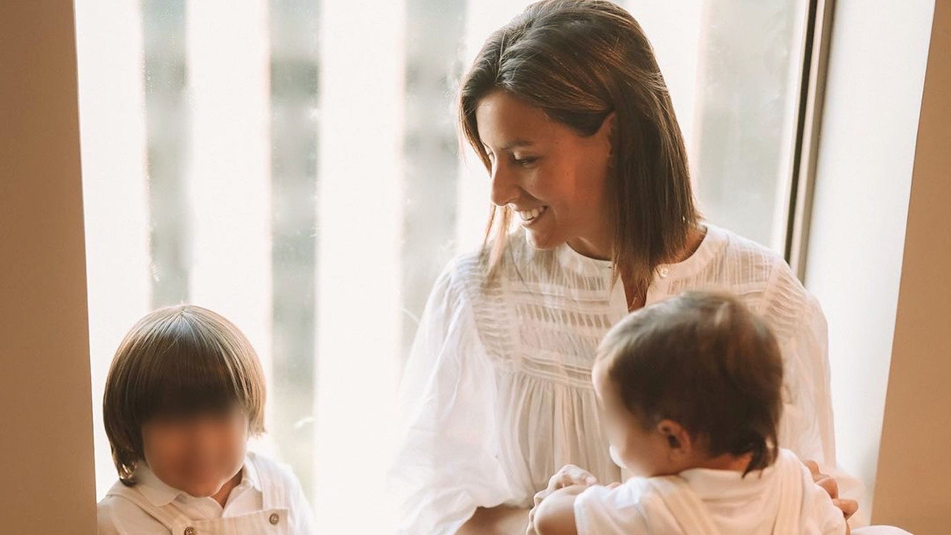
<svg viewBox="0 0 951 535"><path fill-rule="evenodd" d="M495 372L455 271L433 287L400 385L398 533L455 533L477 506L514 498L496 454Z"/></svg>

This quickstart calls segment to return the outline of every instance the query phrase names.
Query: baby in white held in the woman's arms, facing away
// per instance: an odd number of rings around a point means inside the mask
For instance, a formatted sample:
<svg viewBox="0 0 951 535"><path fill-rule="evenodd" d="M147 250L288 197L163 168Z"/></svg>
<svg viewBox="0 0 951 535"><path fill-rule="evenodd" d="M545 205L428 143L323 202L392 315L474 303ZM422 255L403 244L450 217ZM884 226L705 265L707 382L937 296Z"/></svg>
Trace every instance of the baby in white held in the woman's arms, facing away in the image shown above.
<svg viewBox="0 0 951 535"><path fill-rule="evenodd" d="M592 380L611 456L640 477L593 485L566 466L588 484L544 497L530 531L848 533L809 470L776 446L779 347L736 299L687 292L631 314L598 348Z"/></svg>

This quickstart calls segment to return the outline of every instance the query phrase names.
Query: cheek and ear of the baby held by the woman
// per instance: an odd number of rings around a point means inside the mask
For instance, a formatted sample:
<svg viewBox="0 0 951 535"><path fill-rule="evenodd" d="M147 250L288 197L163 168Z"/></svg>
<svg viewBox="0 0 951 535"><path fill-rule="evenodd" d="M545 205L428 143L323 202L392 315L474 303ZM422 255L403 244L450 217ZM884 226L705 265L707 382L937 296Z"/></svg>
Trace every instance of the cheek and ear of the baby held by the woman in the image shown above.
<svg viewBox="0 0 951 535"><path fill-rule="evenodd" d="M640 477L677 474L693 466L692 441L680 425L662 420L645 428L624 406L607 363L595 364L592 380L615 463Z"/></svg>

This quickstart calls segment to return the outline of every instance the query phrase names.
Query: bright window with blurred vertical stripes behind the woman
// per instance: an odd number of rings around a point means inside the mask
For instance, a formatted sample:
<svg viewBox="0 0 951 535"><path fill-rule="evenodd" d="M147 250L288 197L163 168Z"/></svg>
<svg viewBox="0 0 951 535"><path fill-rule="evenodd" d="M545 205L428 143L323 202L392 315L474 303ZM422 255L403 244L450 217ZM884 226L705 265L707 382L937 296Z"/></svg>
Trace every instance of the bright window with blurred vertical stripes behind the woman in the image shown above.
<svg viewBox="0 0 951 535"><path fill-rule="evenodd" d="M269 387L254 447L320 525L384 532L394 393L439 270L489 204L452 91L516 0L76 2L96 473L112 353L153 307L234 321ZM782 251L805 0L629 2L713 223Z"/></svg>

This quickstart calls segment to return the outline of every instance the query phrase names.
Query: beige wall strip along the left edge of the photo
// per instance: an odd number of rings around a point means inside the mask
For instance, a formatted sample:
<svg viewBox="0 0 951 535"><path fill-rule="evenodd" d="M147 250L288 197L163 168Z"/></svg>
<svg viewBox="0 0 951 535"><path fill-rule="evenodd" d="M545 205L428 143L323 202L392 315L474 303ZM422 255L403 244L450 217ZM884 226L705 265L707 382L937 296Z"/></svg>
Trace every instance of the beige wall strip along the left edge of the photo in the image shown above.
<svg viewBox="0 0 951 535"><path fill-rule="evenodd" d="M0 532L95 533L72 2L0 2Z"/></svg>

